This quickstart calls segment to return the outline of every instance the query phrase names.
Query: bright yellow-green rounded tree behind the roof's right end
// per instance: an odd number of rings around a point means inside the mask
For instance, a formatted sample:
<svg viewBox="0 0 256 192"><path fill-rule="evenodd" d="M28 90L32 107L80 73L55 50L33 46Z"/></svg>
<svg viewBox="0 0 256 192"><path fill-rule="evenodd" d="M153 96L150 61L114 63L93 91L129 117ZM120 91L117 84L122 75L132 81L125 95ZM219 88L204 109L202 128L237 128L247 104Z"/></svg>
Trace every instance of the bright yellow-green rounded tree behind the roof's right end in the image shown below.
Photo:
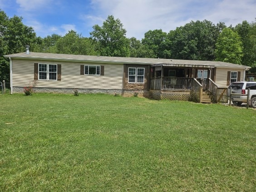
<svg viewBox="0 0 256 192"><path fill-rule="evenodd" d="M216 61L241 64L243 45L240 36L231 28L225 28L216 43Z"/></svg>

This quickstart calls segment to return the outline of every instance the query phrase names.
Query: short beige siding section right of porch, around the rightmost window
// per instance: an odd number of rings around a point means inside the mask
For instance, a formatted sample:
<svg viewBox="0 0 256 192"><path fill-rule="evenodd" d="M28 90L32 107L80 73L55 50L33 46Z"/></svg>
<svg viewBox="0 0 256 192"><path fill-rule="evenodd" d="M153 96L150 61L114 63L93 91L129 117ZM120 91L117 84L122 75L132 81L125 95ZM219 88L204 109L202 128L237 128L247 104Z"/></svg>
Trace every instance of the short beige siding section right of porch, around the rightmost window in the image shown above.
<svg viewBox="0 0 256 192"><path fill-rule="evenodd" d="M241 78L242 81L244 79L244 70L242 69L230 69L230 68L217 68L216 69L216 80L215 83L219 87L227 87L226 85L226 79L227 79L227 72L228 71L240 71L241 72Z"/></svg>

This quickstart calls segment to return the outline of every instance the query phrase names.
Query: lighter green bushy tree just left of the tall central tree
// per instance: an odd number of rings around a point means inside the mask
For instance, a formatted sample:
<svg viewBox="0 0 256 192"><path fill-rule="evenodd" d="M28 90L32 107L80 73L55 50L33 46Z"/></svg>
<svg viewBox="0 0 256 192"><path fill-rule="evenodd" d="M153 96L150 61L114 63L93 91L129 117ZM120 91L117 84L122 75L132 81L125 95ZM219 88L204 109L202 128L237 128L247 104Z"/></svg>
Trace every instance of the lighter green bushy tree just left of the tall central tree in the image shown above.
<svg viewBox="0 0 256 192"><path fill-rule="evenodd" d="M69 31L64 37L57 40L56 49L59 54L97 54L92 39L84 38L74 30Z"/></svg>

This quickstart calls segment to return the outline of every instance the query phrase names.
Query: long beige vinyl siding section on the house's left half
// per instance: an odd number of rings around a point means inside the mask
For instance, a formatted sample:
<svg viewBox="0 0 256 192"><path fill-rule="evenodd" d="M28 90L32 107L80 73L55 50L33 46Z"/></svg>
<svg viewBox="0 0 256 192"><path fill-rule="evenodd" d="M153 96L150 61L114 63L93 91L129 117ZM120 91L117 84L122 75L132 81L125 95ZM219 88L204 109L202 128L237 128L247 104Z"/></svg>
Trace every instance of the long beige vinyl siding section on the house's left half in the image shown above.
<svg viewBox="0 0 256 192"><path fill-rule="evenodd" d="M61 81L38 80L36 87L122 89L122 64L88 64L59 61L13 59L13 86L28 86L34 80L34 63L61 64ZM80 75L80 65L104 65L104 75Z"/></svg>

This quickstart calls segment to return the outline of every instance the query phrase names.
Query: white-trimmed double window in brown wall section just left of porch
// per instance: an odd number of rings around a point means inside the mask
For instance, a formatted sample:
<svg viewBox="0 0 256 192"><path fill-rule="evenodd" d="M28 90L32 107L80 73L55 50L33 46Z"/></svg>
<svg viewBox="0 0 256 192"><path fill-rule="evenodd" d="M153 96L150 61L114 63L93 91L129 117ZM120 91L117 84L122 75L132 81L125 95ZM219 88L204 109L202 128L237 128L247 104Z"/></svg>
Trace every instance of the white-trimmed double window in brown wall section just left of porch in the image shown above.
<svg viewBox="0 0 256 192"><path fill-rule="evenodd" d="M144 83L145 68L128 68L128 83Z"/></svg>

